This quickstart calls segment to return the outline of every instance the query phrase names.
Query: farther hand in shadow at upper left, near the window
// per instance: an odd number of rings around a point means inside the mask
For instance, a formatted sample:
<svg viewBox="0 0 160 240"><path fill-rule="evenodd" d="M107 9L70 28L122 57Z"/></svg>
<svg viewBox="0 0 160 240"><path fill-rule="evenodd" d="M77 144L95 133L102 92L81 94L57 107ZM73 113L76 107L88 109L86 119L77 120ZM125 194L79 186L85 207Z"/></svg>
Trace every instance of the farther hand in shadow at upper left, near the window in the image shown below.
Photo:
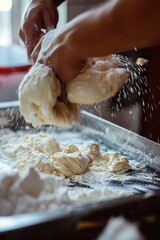
<svg viewBox="0 0 160 240"><path fill-rule="evenodd" d="M57 25L58 11L55 2L53 0L31 0L26 6L19 35L26 46L29 60L40 38Z"/></svg>

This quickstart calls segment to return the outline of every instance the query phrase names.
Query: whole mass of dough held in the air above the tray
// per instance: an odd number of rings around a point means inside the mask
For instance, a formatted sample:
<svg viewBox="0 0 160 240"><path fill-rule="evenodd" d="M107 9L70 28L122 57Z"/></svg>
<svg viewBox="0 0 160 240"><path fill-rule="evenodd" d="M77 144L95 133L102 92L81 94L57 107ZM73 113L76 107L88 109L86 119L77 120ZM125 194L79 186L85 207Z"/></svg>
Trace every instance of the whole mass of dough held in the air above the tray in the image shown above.
<svg viewBox="0 0 160 240"><path fill-rule="evenodd" d="M54 71L37 62L19 86L20 111L34 127L73 124L79 117L78 104L107 100L124 84L127 73L118 66L111 56L89 59L85 69L62 87Z"/></svg>

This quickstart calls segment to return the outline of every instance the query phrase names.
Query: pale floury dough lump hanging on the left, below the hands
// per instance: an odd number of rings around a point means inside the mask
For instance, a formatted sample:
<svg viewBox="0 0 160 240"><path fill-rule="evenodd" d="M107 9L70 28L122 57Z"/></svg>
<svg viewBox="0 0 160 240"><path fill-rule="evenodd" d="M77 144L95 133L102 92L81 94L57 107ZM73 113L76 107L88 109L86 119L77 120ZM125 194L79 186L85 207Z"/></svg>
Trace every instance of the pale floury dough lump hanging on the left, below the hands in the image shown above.
<svg viewBox="0 0 160 240"><path fill-rule="evenodd" d="M19 86L20 111L34 127L67 125L78 118L76 104L60 102L61 85L51 68L36 63Z"/></svg>

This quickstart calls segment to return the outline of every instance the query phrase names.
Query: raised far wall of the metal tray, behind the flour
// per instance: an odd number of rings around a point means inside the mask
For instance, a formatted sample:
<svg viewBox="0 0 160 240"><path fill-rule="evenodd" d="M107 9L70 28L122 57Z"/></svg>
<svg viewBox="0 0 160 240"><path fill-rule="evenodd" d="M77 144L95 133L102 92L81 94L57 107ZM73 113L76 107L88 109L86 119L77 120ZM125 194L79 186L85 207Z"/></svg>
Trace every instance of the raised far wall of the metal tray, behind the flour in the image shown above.
<svg viewBox="0 0 160 240"><path fill-rule="evenodd" d="M0 103L1 128L16 130L27 126L19 113L18 106L18 101ZM160 144L89 112L81 111L81 118L77 125L69 129L54 128L54 130L71 132L74 130L90 135L93 139L105 138L106 145L111 145L115 150L134 157L137 161L143 162L160 172Z"/></svg>

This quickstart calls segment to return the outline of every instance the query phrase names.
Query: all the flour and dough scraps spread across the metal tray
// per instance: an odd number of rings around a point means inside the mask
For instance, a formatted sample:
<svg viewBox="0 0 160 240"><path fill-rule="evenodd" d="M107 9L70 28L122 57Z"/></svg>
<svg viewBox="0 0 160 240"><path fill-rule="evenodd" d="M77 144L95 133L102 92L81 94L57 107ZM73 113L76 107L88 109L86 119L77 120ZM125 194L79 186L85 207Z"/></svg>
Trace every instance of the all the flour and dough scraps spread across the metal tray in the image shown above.
<svg viewBox="0 0 160 240"><path fill-rule="evenodd" d="M0 215L49 211L133 194L107 185L132 169L119 152L104 151L78 133L0 130ZM72 141L71 141L72 139ZM4 190L5 189L5 190Z"/></svg>

